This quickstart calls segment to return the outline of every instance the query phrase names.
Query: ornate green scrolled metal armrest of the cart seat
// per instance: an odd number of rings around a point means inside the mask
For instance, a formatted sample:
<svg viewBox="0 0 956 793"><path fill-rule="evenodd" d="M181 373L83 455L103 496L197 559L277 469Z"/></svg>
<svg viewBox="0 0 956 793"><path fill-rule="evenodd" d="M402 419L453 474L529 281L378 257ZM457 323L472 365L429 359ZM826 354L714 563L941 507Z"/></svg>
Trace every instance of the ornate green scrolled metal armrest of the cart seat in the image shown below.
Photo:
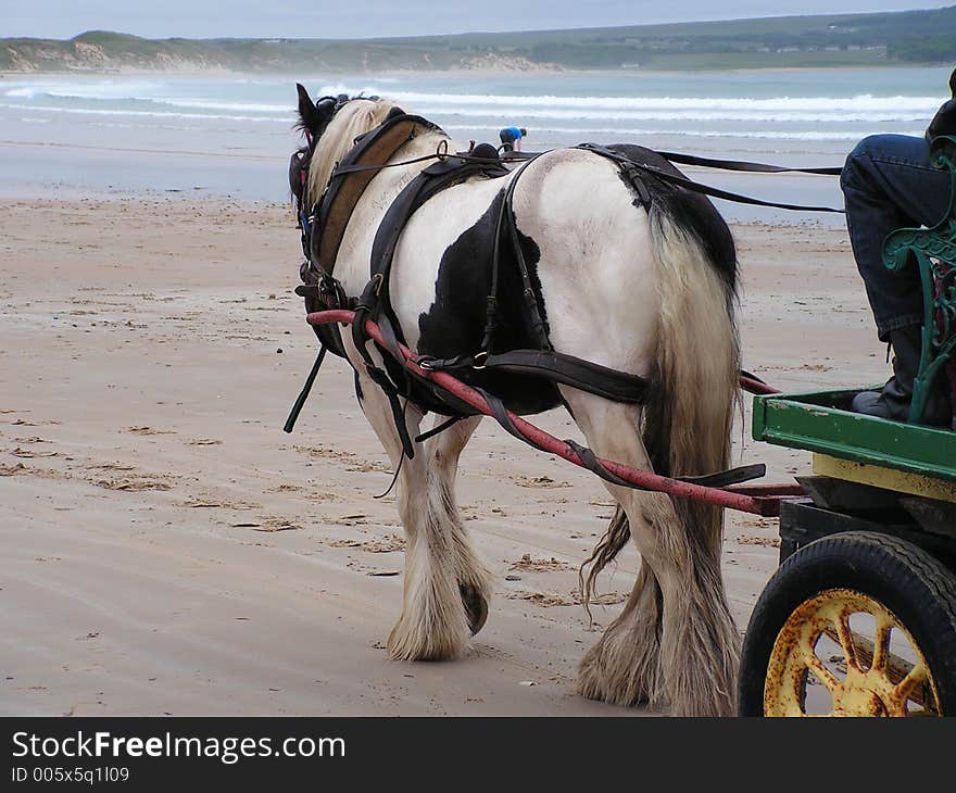
<svg viewBox="0 0 956 793"><path fill-rule="evenodd" d="M930 159L933 167L945 168L953 177L946 215L932 228L897 229L883 243L886 267L898 273L915 262L922 285L922 352L913 387L910 424L922 418L933 381L956 352L956 138L934 138Z"/></svg>

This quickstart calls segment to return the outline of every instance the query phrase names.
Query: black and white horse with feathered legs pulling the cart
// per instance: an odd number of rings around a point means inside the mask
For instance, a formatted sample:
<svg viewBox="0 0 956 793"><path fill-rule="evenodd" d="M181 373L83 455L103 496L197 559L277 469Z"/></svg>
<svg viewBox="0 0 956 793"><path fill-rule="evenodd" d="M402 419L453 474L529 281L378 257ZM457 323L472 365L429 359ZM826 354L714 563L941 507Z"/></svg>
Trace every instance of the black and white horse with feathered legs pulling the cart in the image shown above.
<svg viewBox="0 0 956 793"><path fill-rule="evenodd" d="M302 150L301 198L312 207L356 139L402 111L377 97L314 102L301 85L298 89L299 127L310 142L307 152ZM426 124L403 140L386 167L374 169L335 261L319 263L329 273L334 267L345 295L366 288L376 230L392 202L435 162L436 152L458 150L440 128ZM679 174L649 150L619 150L658 173ZM479 349L495 218L507 197L519 250L499 251L495 350L529 343L515 266L519 255L553 349L645 378L651 387L646 400L634 404L533 376L471 370L469 381L521 414L563 404L603 458L668 476L704 475L727 467L739 407L733 239L705 197L654 176L642 184L639 190L605 156L565 148L498 178L479 174L451 185L418 206L401 230L387 275L389 312L418 355L446 358ZM644 190L647 194L640 194ZM460 455L481 416L419 438L427 407L400 394L397 412L370 376L369 361L378 367L388 363L382 347L349 332L341 339L362 411L398 468L406 545L389 657L453 659L485 624L492 592L493 576L455 501ZM437 415L435 428L445 417ZM408 438L418 438L411 456ZM641 563L620 615L579 664L578 692L624 706L669 706L681 716L732 714L739 634L720 569L722 508L604 484L617 507L589 559L587 580L582 577L584 602L594 576L629 538Z"/></svg>

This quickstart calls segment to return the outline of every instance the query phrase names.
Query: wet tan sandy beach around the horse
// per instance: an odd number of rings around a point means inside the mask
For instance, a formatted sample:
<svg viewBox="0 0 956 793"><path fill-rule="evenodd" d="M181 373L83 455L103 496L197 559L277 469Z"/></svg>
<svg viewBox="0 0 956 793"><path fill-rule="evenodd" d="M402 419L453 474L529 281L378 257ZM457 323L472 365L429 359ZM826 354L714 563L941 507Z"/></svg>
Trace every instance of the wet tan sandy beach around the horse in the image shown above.
<svg viewBox="0 0 956 793"><path fill-rule="evenodd" d="M458 484L495 572L488 625L461 660L387 659L403 540L341 362L281 431L315 352L288 206L0 204L0 715L655 715L574 692L598 637L577 568L609 496L491 421ZM844 231L733 231L747 368L788 389L884 378ZM809 470L751 441L749 412L734 445L769 481ZM729 515L741 632L775 545L775 521ZM600 625L637 564L603 575Z"/></svg>

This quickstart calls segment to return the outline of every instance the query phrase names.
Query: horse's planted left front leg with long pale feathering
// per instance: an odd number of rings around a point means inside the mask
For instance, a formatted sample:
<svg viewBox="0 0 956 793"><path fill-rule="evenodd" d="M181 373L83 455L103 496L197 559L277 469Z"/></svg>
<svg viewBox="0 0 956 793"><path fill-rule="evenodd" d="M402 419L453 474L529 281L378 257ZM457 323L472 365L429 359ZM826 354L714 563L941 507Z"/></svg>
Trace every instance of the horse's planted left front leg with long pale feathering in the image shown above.
<svg viewBox="0 0 956 793"><path fill-rule="evenodd" d="M402 444L388 399L367 376L360 375L358 385L362 410L392 465L399 465ZM419 432L422 418L414 405L406 407L410 437ZM399 660L452 658L464 650L471 633L457 578L461 545L445 506L453 501L444 496L450 491L443 488L433 455L425 445L416 443L415 456L401 466L398 506L405 529L404 591L401 617L388 639L389 656Z"/></svg>

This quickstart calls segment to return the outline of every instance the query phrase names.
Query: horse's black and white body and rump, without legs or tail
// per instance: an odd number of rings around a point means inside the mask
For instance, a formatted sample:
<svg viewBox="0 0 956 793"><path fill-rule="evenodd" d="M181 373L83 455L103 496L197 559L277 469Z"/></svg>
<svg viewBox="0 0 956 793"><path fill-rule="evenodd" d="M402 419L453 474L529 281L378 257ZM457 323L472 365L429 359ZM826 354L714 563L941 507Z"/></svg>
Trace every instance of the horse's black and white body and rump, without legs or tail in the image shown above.
<svg viewBox="0 0 956 793"><path fill-rule="evenodd" d="M614 147L639 163L679 173L640 147ZM438 357L480 349L499 247L499 349L533 347L525 285L499 217L508 185L520 252L555 349L646 374L661 300L649 204L619 165L584 149L546 152L499 179L473 179L422 206L402 234L392 301L419 352ZM703 196L646 177L655 211L696 239L732 285L733 243ZM731 287L732 288L732 287Z"/></svg>

